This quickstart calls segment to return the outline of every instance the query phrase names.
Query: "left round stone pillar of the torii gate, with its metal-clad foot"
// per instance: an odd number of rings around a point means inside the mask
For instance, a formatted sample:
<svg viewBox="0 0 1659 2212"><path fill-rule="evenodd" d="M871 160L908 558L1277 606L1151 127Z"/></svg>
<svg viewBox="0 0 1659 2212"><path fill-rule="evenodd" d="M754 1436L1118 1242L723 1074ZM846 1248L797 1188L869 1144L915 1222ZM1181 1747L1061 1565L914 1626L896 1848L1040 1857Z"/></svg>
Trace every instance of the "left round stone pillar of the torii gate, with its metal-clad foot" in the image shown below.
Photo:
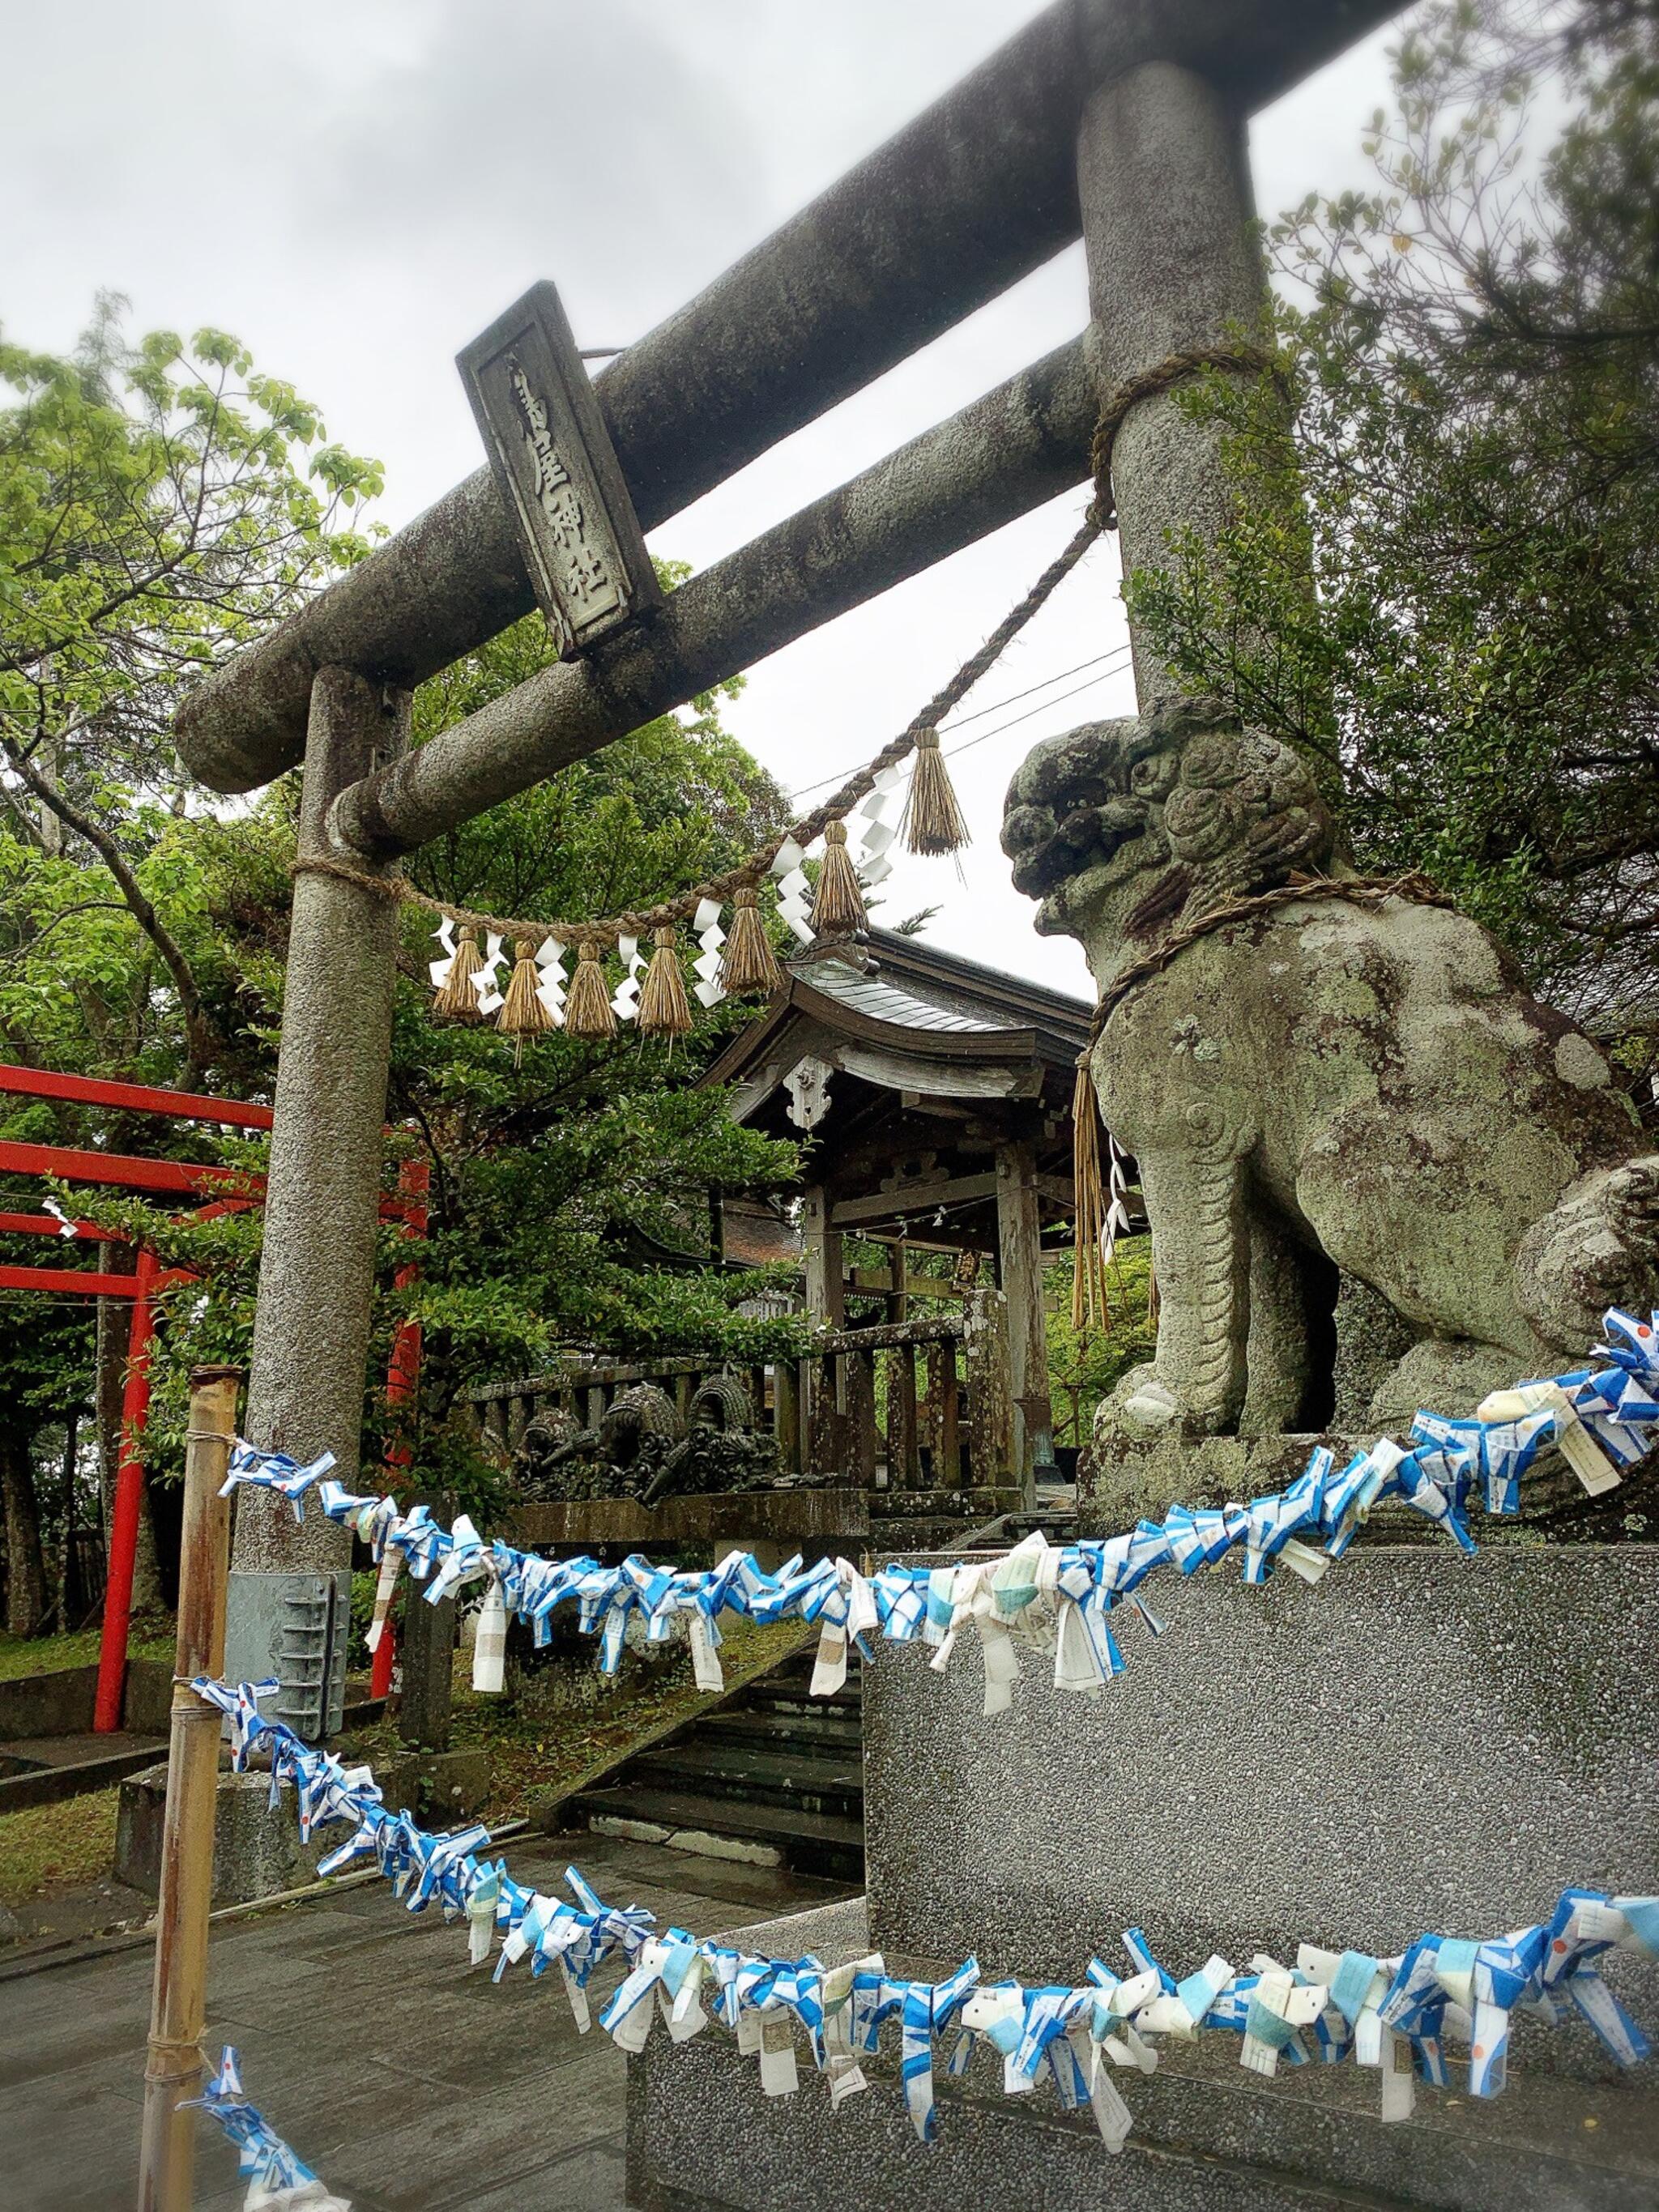
<svg viewBox="0 0 1659 2212"><path fill-rule="evenodd" d="M356 1480L363 1369L380 1206L396 902L307 869L341 860L327 838L336 794L409 737L409 692L323 668L312 686L299 872L288 940L276 1126L270 1141L265 1250L248 1385L254 1444L312 1458L332 1451ZM312 1506L241 1491L230 1575L226 1666L232 1681L279 1674L276 1712L307 1736L338 1728L352 1537Z"/></svg>

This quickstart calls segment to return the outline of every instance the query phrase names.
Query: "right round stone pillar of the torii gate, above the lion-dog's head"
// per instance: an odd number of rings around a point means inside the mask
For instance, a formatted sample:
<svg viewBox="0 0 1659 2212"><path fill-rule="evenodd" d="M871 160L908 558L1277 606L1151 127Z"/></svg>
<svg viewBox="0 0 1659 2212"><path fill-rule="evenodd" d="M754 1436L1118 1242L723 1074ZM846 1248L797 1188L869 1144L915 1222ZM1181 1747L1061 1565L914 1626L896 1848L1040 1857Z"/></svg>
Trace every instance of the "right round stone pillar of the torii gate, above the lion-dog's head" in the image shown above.
<svg viewBox="0 0 1659 2212"><path fill-rule="evenodd" d="M1252 223L1245 119L1214 84L1148 62L1104 84L1077 133L1077 190L1102 396L1170 354L1263 327L1267 290ZM1124 575L1168 560L1170 535L1214 540L1230 493L1219 440L1175 392L1139 400L1113 456ZM1135 637L1141 708L1177 686Z"/></svg>

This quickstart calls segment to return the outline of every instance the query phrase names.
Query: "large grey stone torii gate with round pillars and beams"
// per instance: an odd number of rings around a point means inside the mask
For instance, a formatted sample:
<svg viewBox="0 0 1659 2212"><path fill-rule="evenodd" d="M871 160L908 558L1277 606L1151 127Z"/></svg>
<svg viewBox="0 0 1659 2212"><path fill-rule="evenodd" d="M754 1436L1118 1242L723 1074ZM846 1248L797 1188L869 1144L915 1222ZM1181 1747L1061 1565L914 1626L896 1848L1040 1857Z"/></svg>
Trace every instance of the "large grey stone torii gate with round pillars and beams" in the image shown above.
<svg viewBox="0 0 1659 2212"><path fill-rule="evenodd" d="M398 854L664 714L1088 478L1102 398L1261 323L1245 124L1398 0L1057 0L602 376L599 447L655 529L1082 234L1071 345L692 577L648 619L542 670L418 752L411 686L535 604L491 469L210 677L177 745L219 792L303 759L265 1254L257 1444L332 1449L349 1482L367 1356ZM1126 573L1212 535L1210 434L1168 394L1121 425ZM615 482L615 478L613 478ZM1148 706L1161 670L1137 648ZM803 763L803 772L810 763ZM349 1535L243 1493L228 1668L281 1672L283 1621ZM294 1608L299 1601L299 1610Z"/></svg>

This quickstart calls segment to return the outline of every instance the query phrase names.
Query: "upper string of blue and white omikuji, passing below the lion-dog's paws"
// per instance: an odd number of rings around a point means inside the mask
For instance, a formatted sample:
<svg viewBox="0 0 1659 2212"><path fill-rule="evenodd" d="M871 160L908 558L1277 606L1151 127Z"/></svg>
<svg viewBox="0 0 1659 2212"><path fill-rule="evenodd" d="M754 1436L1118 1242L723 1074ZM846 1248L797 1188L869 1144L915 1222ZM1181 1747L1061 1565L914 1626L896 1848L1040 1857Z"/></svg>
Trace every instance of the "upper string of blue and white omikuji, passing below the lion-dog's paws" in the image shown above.
<svg viewBox="0 0 1659 2212"><path fill-rule="evenodd" d="M1157 1568L1192 1575L1243 1553L1243 1579L1263 1584L1274 1568L1318 1582L1340 1559L1358 1526L1385 1500L1413 1513L1473 1551L1469 1500L1480 1491L1489 1513L1520 1511L1520 1482L1533 1458L1555 1444L1590 1495L1619 1482L1659 1431L1659 1312L1650 1321L1610 1307L1606 1343L1573 1374L1493 1391L1473 1418L1418 1413L1411 1444L1380 1438L1336 1467L1321 1444L1285 1491L1225 1506L1172 1506L1161 1522L1141 1520L1124 1535L1051 1544L1042 1531L989 1559L949 1566L883 1566L863 1575L849 1559L812 1566L790 1559L776 1573L752 1553L728 1553L719 1566L675 1571L633 1555L619 1566L597 1559L542 1559L495 1537L484 1542L462 1513L442 1528L422 1504L405 1511L396 1498L365 1498L332 1480L334 1455L301 1467L292 1458L237 1442L223 1495L239 1484L279 1491L305 1511L314 1493L323 1513L361 1535L380 1562L369 1626L376 1648L407 1562L429 1604L482 1588L473 1648L473 1688L504 1681L507 1617L531 1624L535 1644L551 1639L557 1606L575 1604L577 1626L599 1637L606 1674L622 1661L624 1639L644 1630L653 1644L684 1626L701 1690L721 1690L719 1617L818 1624L812 1692L834 1694L847 1677L847 1648L872 1659L869 1637L920 1639L945 1670L973 1628L984 1655L984 1710L1006 1712L1020 1674L1018 1650L1053 1652L1062 1690L1099 1697L1124 1670L1113 1610L1128 1601L1157 1637L1164 1624L1139 1595Z"/></svg>

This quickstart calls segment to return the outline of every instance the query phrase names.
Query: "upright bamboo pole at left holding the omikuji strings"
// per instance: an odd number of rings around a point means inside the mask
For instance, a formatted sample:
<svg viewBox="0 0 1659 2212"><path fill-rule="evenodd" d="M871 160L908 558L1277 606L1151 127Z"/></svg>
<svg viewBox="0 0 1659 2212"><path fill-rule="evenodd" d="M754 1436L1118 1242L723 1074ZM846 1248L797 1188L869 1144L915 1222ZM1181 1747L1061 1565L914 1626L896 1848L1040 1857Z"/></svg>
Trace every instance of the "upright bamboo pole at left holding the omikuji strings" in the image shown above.
<svg viewBox="0 0 1659 2212"><path fill-rule="evenodd" d="M219 1787L219 1712L190 1683L197 1674L219 1674L226 1663L230 1500L219 1495L219 1486L237 1431L239 1383L234 1367L197 1367L190 1376L179 1652L173 1674L150 2044L144 2064L139 2212L190 2212L195 2112L181 2112L179 2106L201 2088L204 2073L212 1818Z"/></svg>

